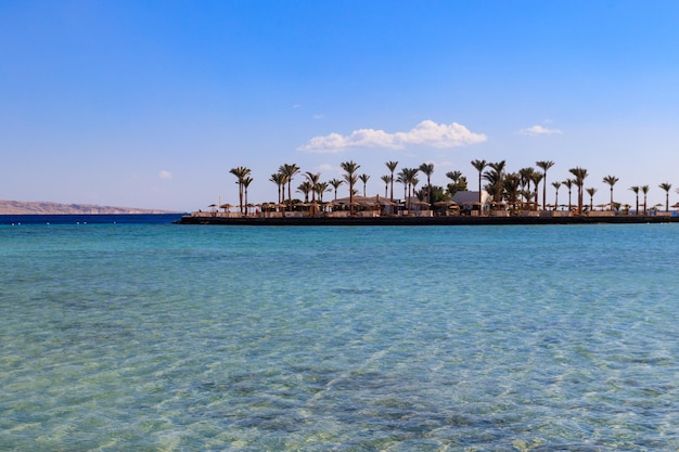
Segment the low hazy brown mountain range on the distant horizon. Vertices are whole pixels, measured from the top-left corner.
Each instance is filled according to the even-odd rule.
[[[131,207],[97,206],[93,204],[60,204],[49,202],[0,199],[0,215],[115,215],[115,214],[177,214],[174,210],[137,209]]]

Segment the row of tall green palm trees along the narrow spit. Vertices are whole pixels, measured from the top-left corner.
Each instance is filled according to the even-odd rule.
[[[539,206],[539,185],[542,183],[542,210],[548,208],[547,204],[547,175],[548,170],[554,166],[552,160],[538,160],[536,162],[536,169],[534,167],[522,168],[515,172],[507,171],[505,160],[501,162],[486,162],[482,159],[475,159],[471,162],[471,165],[478,171],[478,203],[482,203],[482,190],[485,190],[492,198],[496,205],[501,205],[507,202],[511,205],[520,203],[533,205],[536,208]],[[305,178],[296,192],[303,193],[305,202],[309,202],[309,195],[311,195],[311,203],[316,203],[318,199],[323,202],[323,193],[334,190],[335,198],[337,198],[337,190],[341,185],[348,185],[349,192],[349,209],[350,215],[354,215],[354,196],[359,192],[355,189],[356,184],[361,181],[363,185],[363,196],[366,196],[366,189],[369,175],[358,173],[360,165],[354,160],[343,162],[341,165],[344,175],[342,179],[331,179],[329,181],[321,181],[321,175],[319,172],[307,171],[303,176]],[[401,168],[397,173],[398,162],[386,162],[386,168],[388,173],[381,177],[382,182],[385,184],[385,197],[394,202],[394,182],[403,184],[403,197],[408,202],[407,208],[410,210],[410,202],[413,196],[420,201],[425,201],[430,204],[430,207],[435,202],[448,201],[457,192],[467,190],[467,181],[461,171],[448,171],[446,177],[450,179],[450,183],[446,188],[432,185],[431,177],[434,173],[434,164],[423,163],[417,168]],[[541,171],[540,171],[541,170]],[[293,179],[300,175],[302,169],[296,164],[283,164],[279,167],[278,172],[274,172],[269,178],[269,181],[273,182],[278,186],[278,204],[285,205],[286,209],[293,210],[293,196],[292,196],[292,182]],[[247,189],[253,182],[251,176],[251,169],[246,167],[232,168],[231,172],[236,178],[236,184],[239,185],[239,207],[241,214],[245,214],[247,206]],[[577,212],[582,212],[585,208],[584,196],[585,193],[590,196],[590,210],[593,209],[593,197],[597,189],[585,188],[585,180],[587,179],[588,170],[582,167],[575,167],[568,170],[571,178],[563,181],[553,181],[551,185],[555,190],[554,208],[559,206],[559,190],[565,186],[568,190],[568,210],[573,209],[572,204],[572,191],[575,188],[577,190]],[[426,177],[426,185],[420,191],[417,191],[417,185],[420,183],[419,175],[422,173]],[[484,185],[484,181],[486,182]],[[619,203],[615,203],[613,198],[613,188],[619,181],[619,178],[615,176],[605,176],[602,179],[603,183],[610,186],[611,198],[610,208],[619,209]],[[669,191],[671,184],[669,182],[663,182],[658,185],[665,191],[665,210],[669,210]],[[287,188],[287,198],[285,198],[285,188]],[[643,214],[646,215],[646,195],[650,191],[649,185],[635,185],[630,190],[637,195],[637,208],[639,212],[639,194],[643,194]],[[679,190],[677,190],[679,193]],[[520,198],[523,197],[523,201]],[[629,206],[631,207],[631,206]]]

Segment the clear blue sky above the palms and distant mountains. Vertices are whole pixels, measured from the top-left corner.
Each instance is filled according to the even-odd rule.
[[[196,210],[235,204],[236,166],[266,202],[282,164],[351,159],[371,194],[387,160],[475,188],[483,158],[652,205],[679,188],[678,48],[676,1],[4,0],[0,198]]]

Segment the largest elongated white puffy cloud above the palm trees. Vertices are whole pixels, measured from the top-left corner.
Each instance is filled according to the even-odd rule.
[[[484,141],[486,141],[485,134],[474,133],[460,124],[436,124],[427,119],[408,132],[387,133],[384,130],[359,129],[348,135],[330,133],[324,137],[315,137],[297,150],[317,153],[337,153],[348,147],[396,150],[408,145],[422,145],[443,148]]]

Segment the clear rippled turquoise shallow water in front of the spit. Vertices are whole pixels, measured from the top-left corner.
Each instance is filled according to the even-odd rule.
[[[679,449],[675,224],[0,227],[0,450]]]

